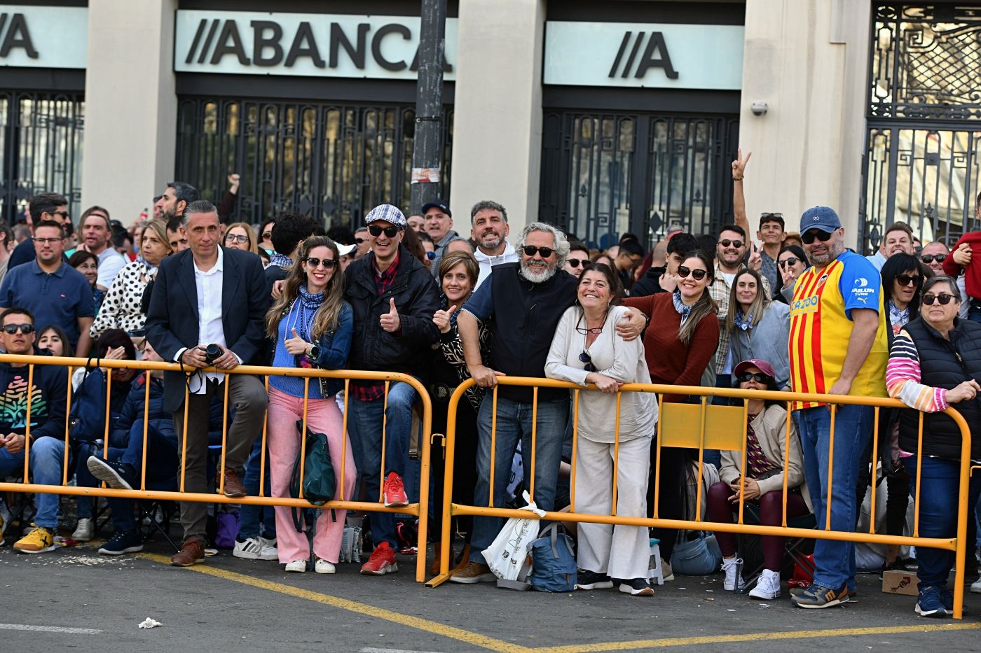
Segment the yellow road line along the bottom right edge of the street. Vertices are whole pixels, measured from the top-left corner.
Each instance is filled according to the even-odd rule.
[[[693,646],[697,644],[728,644],[740,641],[775,641],[778,639],[805,639],[808,637],[843,637],[898,632],[937,632],[950,630],[974,630],[981,624],[930,624],[923,626],[896,626],[883,628],[838,628],[828,630],[791,630],[787,632],[748,632],[732,635],[704,635],[698,637],[666,637],[664,639],[640,639],[636,641],[612,641],[597,644],[573,644],[571,646],[545,646],[535,653],[594,653],[597,651],[628,651],[639,648],[667,648],[668,646]]]

